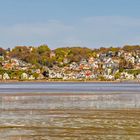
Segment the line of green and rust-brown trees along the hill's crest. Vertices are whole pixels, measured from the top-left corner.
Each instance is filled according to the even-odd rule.
[[[124,47],[101,47],[99,49],[91,49],[87,47],[62,47],[55,50],[51,50],[48,45],[40,45],[38,47],[33,46],[16,46],[11,51],[0,48],[0,56],[18,58],[27,63],[34,64],[36,66],[48,66],[65,65],[66,63],[79,62],[81,59],[87,59],[89,57],[97,57],[100,53],[113,52],[115,55],[118,51],[123,50],[126,52],[140,51],[139,45],[125,45]],[[8,53],[7,53],[8,52]],[[54,54],[54,55],[53,55]],[[114,57],[115,57],[114,55]],[[122,65],[123,60],[121,61]],[[128,64],[130,65],[130,64]]]

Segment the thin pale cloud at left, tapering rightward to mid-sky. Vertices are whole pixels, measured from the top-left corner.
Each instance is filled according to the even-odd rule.
[[[61,37],[71,30],[71,26],[59,21],[0,26],[0,43],[8,46],[47,44],[47,41],[61,40]]]

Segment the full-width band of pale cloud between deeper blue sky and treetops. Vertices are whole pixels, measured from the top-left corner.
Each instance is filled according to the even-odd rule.
[[[140,19],[121,16],[95,16],[65,23],[0,25],[0,46],[48,44],[63,46],[120,46],[140,44]]]

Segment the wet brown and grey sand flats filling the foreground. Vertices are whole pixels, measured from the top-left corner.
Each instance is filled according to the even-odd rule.
[[[0,95],[0,140],[139,140],[140,95]]]

